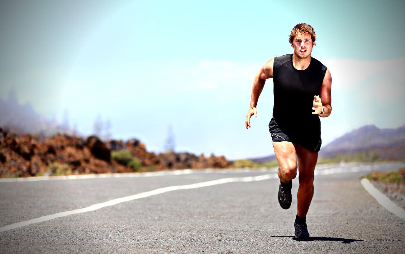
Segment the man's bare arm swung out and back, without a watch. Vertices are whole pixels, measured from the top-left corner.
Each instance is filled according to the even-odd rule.
[[[257,102],[259,100],[260,93],[262,93],[266,79],[273,78],[273,63],[274,63],[274,58],[267,61],[267,63],[264,64],[264,66],[256,74],[256,76],[253,80],[252,96],[250,97],[250,107],[249,107],[249,111],[247,112],[247,115],[245,118],[246,129],[249,129],[249,127],[251,127],[250,118],[252,117],[252,115],[257,117],[256,106],[257,106]]]

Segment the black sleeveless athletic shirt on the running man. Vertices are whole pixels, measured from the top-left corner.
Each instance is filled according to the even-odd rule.
[[[292,54],[274,58],[273,119],[282,129],[310,130],[320,135],[319,116],[312,114],[312,107],[313,96],[320,94],[326,69],[313,57],[305,70],[294,68]]]

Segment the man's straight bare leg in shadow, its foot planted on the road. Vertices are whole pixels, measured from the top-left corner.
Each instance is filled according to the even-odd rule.
[[[318,161],[318,152],[311,152],[301,145],[295,145],[298,158],[298,181],[300,186],[297,193],[298,216],[305,218],[313,197],[313,172]]]

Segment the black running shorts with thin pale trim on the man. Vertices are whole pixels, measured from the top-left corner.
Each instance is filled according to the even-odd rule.
[[[273,142],[288,141],[294,144],[299,144],[304,148],[319,152],[322,145],[320,127],[318,129],[309,129],[303,126],[295,127],[280,127],[274,118],[269,123],[269,131]]]

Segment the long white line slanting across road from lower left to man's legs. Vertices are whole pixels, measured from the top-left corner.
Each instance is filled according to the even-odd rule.
[[[70,211],[60,212],[60,213],[56,213],[56,214],[50,214],[50,215],[42,216],[42,217],[35,218],[35,219],[32,219],[32,220],[27,220],[27,221],[23,221],[23,222],[10,224],[10,225],[7,225],[7,226],[2,226],[0,228],[0,232],[11,230],[11,229],[17,229],[17,228],[19,228],[21,226],[27,226],[27,225],[38,223],[38,222],[52,220],[52,219],[55,219],[55,218],[65,217],[65,216],[69,216],[69,215],[72,215],[72,214],[80,214],[80,213],[85,213],[85,212],[91,212],[91,211],[101,209],[103,207],[107,207],[107,206],[111,206],[111,205],[117,205],[119,203],[132,201],[132,200],[135,200],[135,199],[142,199],[142,198],[145,198],[145,197],[150,197],[150,196],[153,196],[153,195],[158,195],[158,194],[166,193],[166,192],[173,191],[173,190],[195,189],[195,188],[213,186],[213,185],[217,185],[217,184],[225,184],[225,183],[228,183],[228,182],[262,181],[262,180],[267,180],[267,179],[271,179],[271,178],[278,178],[278,176],[277,176],[277,174],[265,174],[265,175],[261,175],[261,176],[222,178],[222,179],[212,180],[212,181],[207,181],[207,182],[198,182],[198,183],[195,183],[195,184],[168,186],[168,187],[164,187],[164,188],[158,188],[158,189],[155,189],[155,190],[146,191],[146,192],[143,192],[143,193],[138,193],[138,194],[135,194],[135,195],[130,195],[130,196],[126,196],[126,197],[120,197],[120,198],[117,198],[117,199],[111,199],[111,200],[103,202],[103,203],[97,203],[97,204],[90,205],[88,207],[84,207],[84,208],[80,208],[80,209],[76,209],[76,210],[70,210]]]

